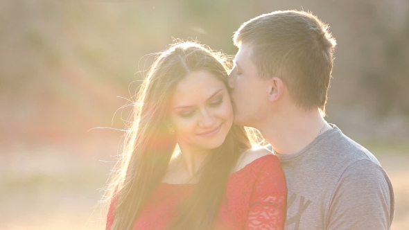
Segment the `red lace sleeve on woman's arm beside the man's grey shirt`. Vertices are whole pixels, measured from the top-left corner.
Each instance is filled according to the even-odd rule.
[[[279,159],[268,157],[253,186],[245,229],[284,229],[286,200],[286,178]]]

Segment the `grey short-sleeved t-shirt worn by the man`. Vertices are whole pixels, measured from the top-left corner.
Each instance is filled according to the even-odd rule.
[[[277,154],[288,187],[285,229],[390,229],[388,175],[373,154],[331,126],[301,152]]]

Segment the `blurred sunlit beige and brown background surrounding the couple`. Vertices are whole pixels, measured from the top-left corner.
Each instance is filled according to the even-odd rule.
[[[174,38],[234,55],[234,31],[311,10],[336,37],[327,121],[372,151],[409,229],[409,1],[0,1],[0,229],[104,229],[98,200],[131,98]]]

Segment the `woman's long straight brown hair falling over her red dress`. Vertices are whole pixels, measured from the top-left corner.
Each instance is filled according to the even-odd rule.
[[[177,83],[193,71],[205,70],[229,89],[226,63],[223,55],[207,46],[181,42],[162,52],[150,67],[134,104],[121,161],[112,171],[108,196],[115,201],[111,230],[132,229],[168,169],[177,143],[166,127],[167,105]],[[214,228],[229,174],[248,148],[251,144],[244,127],[233,125],[224,143],[204,161],[198,183],[180,204],[169,229]]]

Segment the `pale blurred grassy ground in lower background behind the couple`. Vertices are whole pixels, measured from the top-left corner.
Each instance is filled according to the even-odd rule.
[[[0,155],[0,229],[105,229],[106,209],[101,209],[98,200],[113,166],[105,161],[114,159],[110,155],[116,152],[116,143],[87,155],[59,148]],[[409,229],[409,146],[366,146],[381,161],[394,186],[392,229]]]

